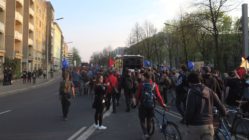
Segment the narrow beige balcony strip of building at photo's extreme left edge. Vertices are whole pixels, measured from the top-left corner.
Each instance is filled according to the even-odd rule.
[[[5,57],[5,18],[6,0],[0,0],[0,79],[3,78],[3,63]]]

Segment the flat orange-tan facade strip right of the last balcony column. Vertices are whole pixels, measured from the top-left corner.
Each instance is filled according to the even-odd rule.
[[[47,3],[45,0],[35,0],[35,33],[33,67],[46,69],[47,46]],[[51,24],[49,24],[51,26]]]

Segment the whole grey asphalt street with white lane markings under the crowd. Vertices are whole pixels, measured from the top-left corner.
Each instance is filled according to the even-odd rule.
[[[93,96],[83,95],[72,99],[69,117],[62,120],[58,96],[59,79],[38,88],[0,98],[1,140],[142,140],[137,108],[125,112],[124,97],[117,113],[107,111],[104,125],[107,130],[93,128],[91,108]],[[175,115],[167,115],[171,121],[179,122]],[[159,127],[152,140],[162,135]]]

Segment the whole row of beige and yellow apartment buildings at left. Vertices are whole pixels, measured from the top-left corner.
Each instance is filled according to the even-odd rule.
[[[0,0],[1,72],[5,58],[18,61],[20,72],[50,70],[52,63],[60,67],[62,42],[61,29],[54,26],[54,8],[50,1]]]

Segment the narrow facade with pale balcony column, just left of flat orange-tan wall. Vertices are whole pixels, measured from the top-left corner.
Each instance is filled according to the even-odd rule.
[[[35,0],[24,0],[24,19],[23,19],[23,61],[22,68],[28,71],[37,69],[34,67],[34,16]]]

